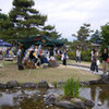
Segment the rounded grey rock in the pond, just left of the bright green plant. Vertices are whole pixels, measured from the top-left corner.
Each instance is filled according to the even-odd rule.
[[[55,105],[56,100],[56,96],[53,94],[49,94],[45,98],[45,105]]]

